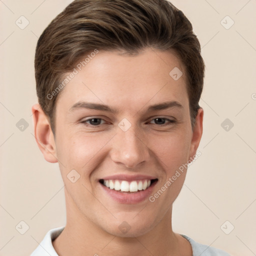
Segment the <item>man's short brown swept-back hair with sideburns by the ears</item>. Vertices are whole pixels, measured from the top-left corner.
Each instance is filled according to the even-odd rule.
[[[145,47],[173,49],[185,66],[193,126],[205,66],[199,41],[183,12],[167,0],[74,0],[45,28],[35,52],[38,102],[53,134],[59,93],[47,95],[85,54],[95,48],[133,54]]]

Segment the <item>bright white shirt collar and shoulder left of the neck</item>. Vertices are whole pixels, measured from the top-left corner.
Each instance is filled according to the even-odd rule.
[[[40,244],[30,254],[30,256],[58,256],[54,247],[52,246],[52,240],[54,240],[62,232],[63,229],[64,226],[50,229],[45,234]]]

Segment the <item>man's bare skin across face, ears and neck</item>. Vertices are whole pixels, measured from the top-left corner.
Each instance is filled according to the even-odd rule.
[[[183,72],[176,81],[169,75],[174,67]],[[39,105],[32,107],[37,144],[45,160],[59,163],[65,184],[66,226],[53,241],[60,256],[192,255],[190,243],[171,227],[186,170],[154,202],[118,203],[98,182],[119,173],[152,175],[158,178],[153,195],[195,155],[203,110],[192,129],[185,78],[173,51],[145,48],[134,56],[99,51],[58,95],[55,137]],[[146,111],[172,100],[181,107]],[[78,101],[104,103],[117,113],[70,110]],[[90,118],[102,119],[97,126],[82,122]],[[118,127],[123,118],[131,124],[127,131]],[[66,176],[72,169],[80,175],[75,183]],[[123,221],[130,226],[126,233],[118,228]]]

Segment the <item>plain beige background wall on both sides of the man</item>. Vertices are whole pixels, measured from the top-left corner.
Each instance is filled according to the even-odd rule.
[[[29,255],[65,224],[63,182],[33,137],[38,36],[70,0],[0,0],[0,255]],[[173,0],[193,24],[206,64],[201,156],[174,203],[174,231],[232,255],[256,254],[256,1]],[[29,20],[24,29],[15,21]],[[226,16],[234,24],[226,29]],[[222,22],[230,25],[231,20]],[[24,23],[23,23],[24,24]],[[25,119],[20,131],[16,123]],[[228,118],[234,126],[226,131]],[[15,226],[23,220],[22,235]],[[227,224],[222,224],[228,220]],[[234,229],[229,233],[232,225]],[[222,226],[222,229],[221,229]],[[24,224],[23,224],[24,227]],[[224,228],[223,228],[224,227]],[[18,229],[18,228],[17,228]]]

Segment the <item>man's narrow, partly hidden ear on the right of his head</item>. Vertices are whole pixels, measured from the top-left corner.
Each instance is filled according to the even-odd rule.
[[[196,150],[201,140],[202,120],[203,120],[203,109],[200,107],[195,117],[195,123],[193,127],[193,133],[192,133],[191,144],[190,144],[190,153],[189,153],[190,157],[193,157],[193,155],[196,154]]]

